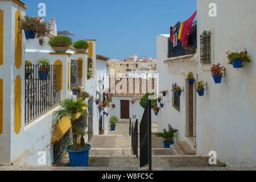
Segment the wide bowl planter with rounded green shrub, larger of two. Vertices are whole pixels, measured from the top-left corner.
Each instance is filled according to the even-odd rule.
[[[49,38],[48,44],[55,52],[66,52],[72,44],[72,39],[68,36],[56,35]]]

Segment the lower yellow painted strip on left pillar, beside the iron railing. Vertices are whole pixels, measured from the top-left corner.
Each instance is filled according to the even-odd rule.
[[[22,107],[22,79],[16,76],[14,81],[14,132],[19,134],[21,129],[21,107]]]

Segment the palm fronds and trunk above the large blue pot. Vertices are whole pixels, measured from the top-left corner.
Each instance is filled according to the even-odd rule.
[[[72,151],[79,151],[79,147],[77,146],[77,119],[76,115],[81,114],[82,117],[87,115],[87,110],[85,107],[88,105],[84,102],[82,98],[78,98],[75,101],[73,98],[66,98],[65,100],[60,102],[60,109],[53,112],[55,122],[61,122],[61,119],[64,117],[68,117],[71,119],[72,125],[72,135],[73,135],[73,146],[69,148]],[[86,146],[87,147],[87,146]]]

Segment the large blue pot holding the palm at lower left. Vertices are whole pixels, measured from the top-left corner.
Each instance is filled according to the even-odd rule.
[[[88,146],[89,146],[88,148],[81,151],[68,150],[68,148],[71,146],[68,146],[66,148],[71,167],[88,167],[89,150],[91,148],[90,144],[88,144]]]

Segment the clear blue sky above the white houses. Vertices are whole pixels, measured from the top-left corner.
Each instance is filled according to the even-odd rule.
[[[46,3],[44,17],[56,18],[57,30],[78,38],[96,39],[96,53],[123,60],[130,55],[156,58],[156,36],[170,34],[170,26],[187,20],[196,0],[22,0],[27,15],[38,16],[38,4]],[[77,39],[77,38],[76,38]]]

